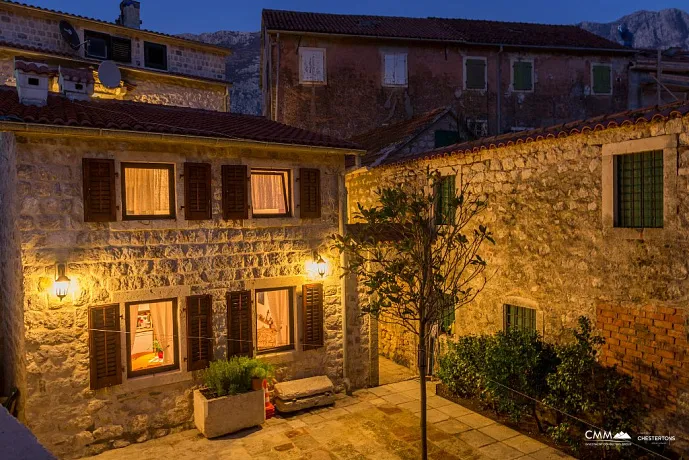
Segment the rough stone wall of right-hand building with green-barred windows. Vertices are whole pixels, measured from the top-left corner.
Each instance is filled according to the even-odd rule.
[[[490,279],[472,304],[457,311],[457,333],[503,329],[504,304],[535,309],[536,327],[549,341],[569,340],[568,328],[580,315],[595,319],[599,304],[642,310],[671,305],[673,325],[658,318],[663,323],[654,326],[668,331],[656,340],[662,355],[662,340],[682,340],[674,324],[688,312],[688,132],[685,117],[358,171],[347,176],[349,214],[357,203],[375,204],[370,191],[399,181],[406,169],[456,172],[458,186],[470,180],[472,191],[487,198],[476,223],[487,225],[496,241],[481,251]],[[664,152],[664,228],[613,228],[612,154],[657,149]],[[672,377],[657,378],[669,386]],[[641,387],[653,391],[643,381]],[[678,390],[678,412],[687,397],[685,387]]]

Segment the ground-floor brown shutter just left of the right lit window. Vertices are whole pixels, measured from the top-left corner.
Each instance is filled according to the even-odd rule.
[[[251,291],[227,294],[227,350],[229,356],[253,356]]]

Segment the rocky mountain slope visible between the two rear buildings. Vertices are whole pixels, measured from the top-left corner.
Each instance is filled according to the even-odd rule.
[[[232,54],[226,63],[227,80],[232,82],[231,110],[235,113],[261,114],[261,90],[258,87],[261,65],[260,32],[221,30],[181,36],[232,48]]]

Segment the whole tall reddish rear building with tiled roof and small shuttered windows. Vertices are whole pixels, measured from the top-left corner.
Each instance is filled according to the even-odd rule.
[[[628,108],[634,50],[576,26],[264,10],[264,115],[343,138],[451,106],[476,137]]]

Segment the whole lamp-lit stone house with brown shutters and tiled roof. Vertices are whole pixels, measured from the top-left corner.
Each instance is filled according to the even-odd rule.
[[[55,455],[190,428],[211,359],[366,384],[367,325],[328,239],[354,144],[192,108],[25,105],[11,87],[0,120],[3,386]]]

